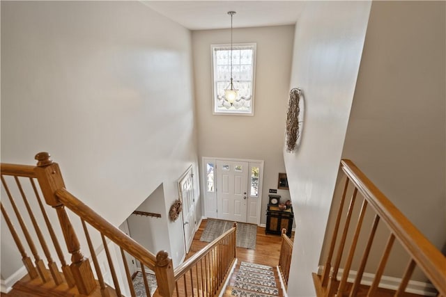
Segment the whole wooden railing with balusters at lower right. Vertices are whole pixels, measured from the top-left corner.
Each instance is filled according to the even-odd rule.
[[[392,246],[396,240],[401,243],[401,246],[407,252],[409,261],[406,266],[406,271],[401,277],[399,288],[396,290],[394,296],[403,296],[405,294],[404,292],[406,291],[415,266],[422,270],[426,278],[438,290],[438,296],[446,296],[445,256],[410,223],[406,216],[376,188],[352,161],[342,160],[341,170],[346,175],[346,181],[339,202],[339,209],[337,210],[332,240],[328,248],[328,256],[323,265],[321,275],[313,275],[318,296],[357,296],[360,289],[364,289],[364,287],[361,287],[361,282],[367,260],[373,248],[381,250],[382,256],[374,274],[374,279],[370,286],[367,287],[367,292],[364,292],[364,296],[366,296],[365,294],[367,296],[381,296],[378,293],[378,285],[380,284],[385,266],[391,256]],[[349,185],[353,187],[349,188]],[[353,193],[351,193],[352,191]],[[347,209],[344,209],[347,193],[351,193],[351,199]],[[358,196],[362,197],[362,206],[357,216],[355,230],[351,234],[351,241],[346,242],[349,238],[348,230],[351,225],[353,213],[355,212],[355,203],[357,200],[360,200]],[[359,266],[357,266],[357,273],[353,282],[349,283],[348,278],[349,276],[351,277],[350,272],[353,257],[362,231],[367,207],[373,211],[374,220],[371,222],[367,243],[364,250],[362,250],[362,258]],[[343,227],[341,227],[341,221],[344,222]],[[377,233],[376,230],[381,221],[385,223],[388,230],[387,244],[384,248],[373,245]],[[342,262],[341,260],[344,257],[346,258]],[[344,264],[344,268],[339,279],[338,273],[342,263]]]

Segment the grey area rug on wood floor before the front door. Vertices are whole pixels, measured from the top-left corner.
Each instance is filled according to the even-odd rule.
[[[231,229],[233,222],[229,220],[208,219],[206,228],[201,234],[200,241],[211,242],[227,230]],[[239,248],[256,249],[257,226],[254,224],[237,223],[237,241]]]

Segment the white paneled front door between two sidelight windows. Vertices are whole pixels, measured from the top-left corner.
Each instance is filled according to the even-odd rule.
[[[215,161],[217,218],[246,223],[248,162]]]

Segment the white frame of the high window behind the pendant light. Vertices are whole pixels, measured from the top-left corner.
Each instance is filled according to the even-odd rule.
[[[214,57],[214,49],[216,47],[231,47],[231,44],[215,44],[210,45],[210,69],[211,69],[211,84],[212,84],[212,113],[213,115],[248,115],[254,116],[254,90],[255,90],[255,82],[256,82],[256,56],[257,56],[257,44],[256,42],[244,42],[244,43],[233,43],[232,47],[252,47],[252,98],[251,98],[251,111],[217,111],[217,96],[215,90],[215,57]],[[228,81],[229,84],[229,81]]]

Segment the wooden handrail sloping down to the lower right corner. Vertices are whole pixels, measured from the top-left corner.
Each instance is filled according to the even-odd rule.
[[[395,205],[347,159],[341,161],[341,169],[374,208],[378,216],[401,242],[403,248],[417,263],[427,278],[446,296],[446,257],[404,216]]]

